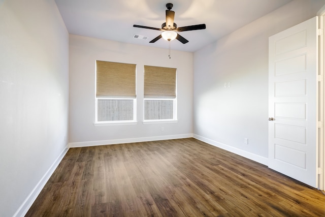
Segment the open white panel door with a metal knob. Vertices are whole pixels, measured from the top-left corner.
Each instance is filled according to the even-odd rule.
[[[269,167],[317,188],[317,17],[269,38]]]

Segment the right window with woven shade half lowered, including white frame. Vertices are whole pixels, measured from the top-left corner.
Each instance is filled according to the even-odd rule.
[[[144,120],[176,120],[176,69],[144,66]]]

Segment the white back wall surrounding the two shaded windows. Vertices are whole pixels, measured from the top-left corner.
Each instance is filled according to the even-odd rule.
[[[95,60],[137,65],[136,125],[94,126]],[[144,65],[177,68],[177,123],[143,124]],[[70,147],[191,137],[192,92],[193,53],[70,36]]]

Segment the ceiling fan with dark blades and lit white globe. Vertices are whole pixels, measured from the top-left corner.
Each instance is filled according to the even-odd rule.
[[[177,24],[174,23],[175,12],[171,11],[171,9],[173,8],[173,4],[168,3],[168,4],[166,4],[166,7],[168,9],[168,10],[166,10],[166,22],[164,22],[161,25],[161,28],[155,28],[155,27],[149,27],[149,26],[143,26],[143,25],[133,25],[133,27],[148,28],[148,29],[163,31],[163,33],[161,33],[161,35],[152,39],[149,43],[154,43],[154,42],[158,41],[160,38],[164,38],[167,41],[172,41],[174,39],[177,39],[178,41],[182,42],[183,44],[186,44],[188,42],[188,40],[186,40],[184,37],[180,36],[177,32],[185,32],[185,31],[190,31],[190,30],[199,30],[199,29],[206,28],[205,24],[177,27]]]

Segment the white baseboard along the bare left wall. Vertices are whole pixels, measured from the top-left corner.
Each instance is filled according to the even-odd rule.
[[[13,217],[23,217],[31,207],[31,205],[35,202],[36,198],[41,193],[42,189],[44,188],[46,182],[50,179],[51,175],[63,159],[63,157],[68,152],[69,147],[67,146],[62,150],[60,155],[56,158],[54,163],[51,165],[51,167],[47,170],[47,172],[44,174],[44,176],[41,178],[41,180],[37,183],[35,188],[30,192],[30,194],[27,196],[27,198],[24,200],[24,202],[21,204],[21,206],[18,208],[16,213],[13,215]]]

